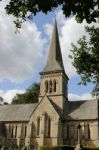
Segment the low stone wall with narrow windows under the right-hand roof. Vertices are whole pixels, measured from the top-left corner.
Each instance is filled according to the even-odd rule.
[[[78,139],[78,125],[80,129],[80,141],[84,146],[98,146],[98,123],[91,121],[68,121],[63,125],[63,142],[67,145],[76,145]]]

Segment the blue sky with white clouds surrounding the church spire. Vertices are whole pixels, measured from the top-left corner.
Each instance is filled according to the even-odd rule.
[[[23,93],[33,82],[39,82],[46,59],[54,18],[56,15],[65,71],[69,76],[69,99],[92,99],[93,85],[78,86],[80,77],[68,58],[71,42],[85,34],[86,22],[78,24],[74,17],[66,19],[61,10],[48,15],[38,14],[33,21],[25,22],[15,34],[13,17],[4,11],[0,2],[0,96],[10,102],[16,93]]]

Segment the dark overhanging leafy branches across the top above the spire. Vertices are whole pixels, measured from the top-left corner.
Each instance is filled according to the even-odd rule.
[[[61,6],[66,17],[75,15],[78,22],[84,19],[91,23],[99,17],[98,0],[10,0],[5,7],[7,14],[15,16],[18,28],[22,21],[32,19],[37,13],[47,14]]]

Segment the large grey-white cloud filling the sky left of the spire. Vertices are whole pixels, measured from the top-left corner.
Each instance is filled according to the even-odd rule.
[[[15,34],[13,18],[0,2],[0,81],[22,82],[39,70],[46,40],[35,23],[25,22]]]

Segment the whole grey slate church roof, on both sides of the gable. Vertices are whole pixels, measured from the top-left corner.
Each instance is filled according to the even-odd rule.
[[[51,99],[49,100],[59,116],[64,120],[98,119],[98,100],[67,101],[63,116],[59,107]],[[38,103],[1,105],[0,122],[29,121],[37,105]]]

